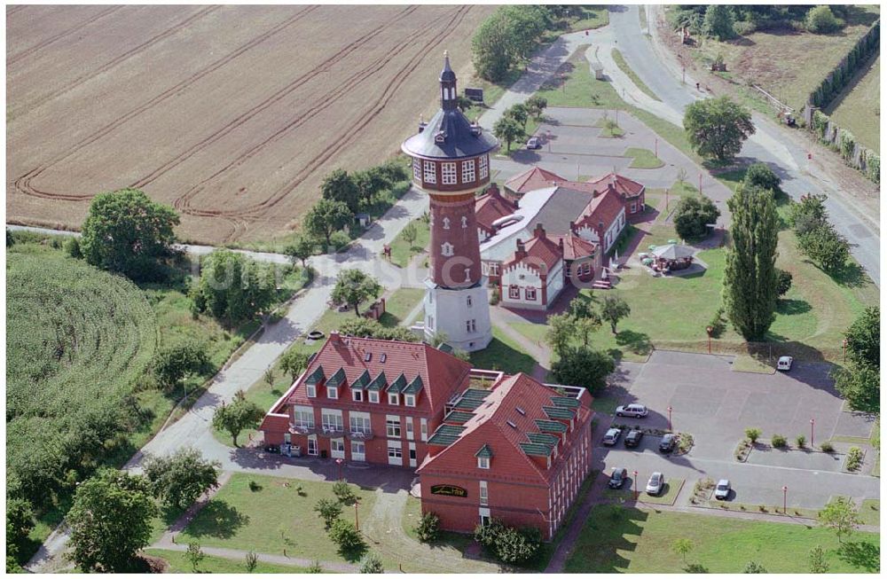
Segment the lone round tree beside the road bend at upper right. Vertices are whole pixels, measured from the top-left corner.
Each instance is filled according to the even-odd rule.
[[[684,129],[697,153],[721,162],[732,160],[742,150],[742,142],[755,132],[751,113],[727,97],[705,98],[687,106]]]

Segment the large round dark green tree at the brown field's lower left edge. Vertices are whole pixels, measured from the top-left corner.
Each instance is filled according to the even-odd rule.
[[[150,279],[157,260],[171,253],[178,223],[172,207],[137,189],[98,193],[83,222],[80,248],[90,265]]]

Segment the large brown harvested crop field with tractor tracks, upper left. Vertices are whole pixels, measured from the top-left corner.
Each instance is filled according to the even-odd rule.
[[[137,187],[183,239],[281,237],[327,172],[396,153],[444,50],[470,77],[493,8],[11,7],[7,220],[75,228],[96,193]]]

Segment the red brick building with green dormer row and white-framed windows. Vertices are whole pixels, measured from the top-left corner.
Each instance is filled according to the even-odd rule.
[[[331,332],[259,429],[267,444],[288,443],[302,455],[419,466],[470,371],[426,343]]]

